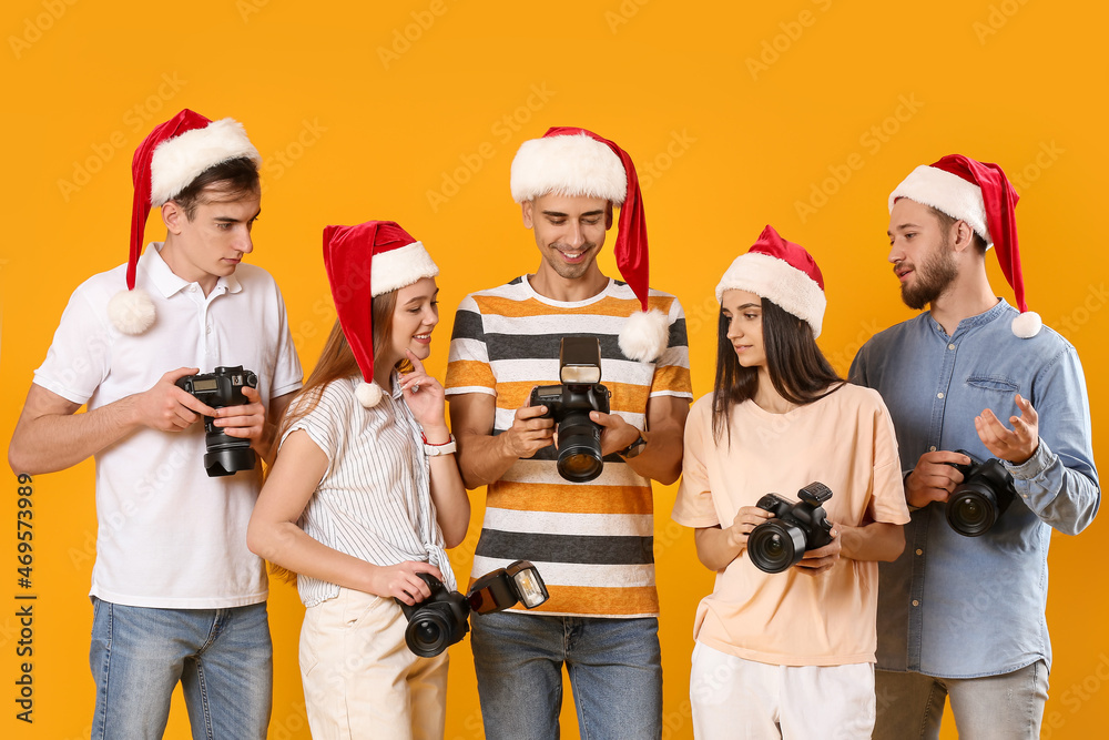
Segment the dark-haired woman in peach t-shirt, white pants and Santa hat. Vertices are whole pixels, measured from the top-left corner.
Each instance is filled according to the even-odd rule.
[[[716,298],[714,391],[690,412],[673,511],[718,571],[694,625],[694,734],[869,738],[877,561],[901,554],[908,521],[889,414],[816,346],[824,281],[803,247],[767,226]],[[754,547],[756,567],[749,536],[775,518],[756,504],[777,494],[790,516],[802,488],[832,494],[812,526],[827,544],[804,551],[783,531]]]

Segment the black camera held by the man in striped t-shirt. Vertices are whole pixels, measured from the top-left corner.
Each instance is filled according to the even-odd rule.
[[[558,426],[560,476],[587,483],[601,474],[601,426],[589,412],[609,413],[609,389],[601,385],[601,342],[596,336],[562,337],[559,346],[559,379],[562,385],[531,389],[529,406],[546,406],[541,418]]]

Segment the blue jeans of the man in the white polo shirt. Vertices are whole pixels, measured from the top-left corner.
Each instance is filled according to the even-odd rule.
[[[92,738],[161,738],[181,681],[194,739],[264,740],[273,706],[265,602],[234,609],[92,602]]]

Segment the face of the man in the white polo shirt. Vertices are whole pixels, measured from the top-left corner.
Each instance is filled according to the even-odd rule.
[[[162,206],[167,233],[161,254],[174,274],[199,283],[207,294],[254,250],[251,231],[262,210],[262,195],[247,191],[228,197],[218,183],[203,195],[191,216],[174,201]]]

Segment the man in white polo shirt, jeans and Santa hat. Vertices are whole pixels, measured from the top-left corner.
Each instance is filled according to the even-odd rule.
[[[70,297],[8,450],[17,474],[96,460],[93,738],[162,737],[179,681],[194,736],[266,736],[267,585],[246,548],[261,466],[210,477],[201,418],[268,458],[272,419],[301,387],[281,292],[238,264],[260,162],[241,124],[189,110],[143,141],[128,264]],[[166,239],[140,257],[151,205]],[[236,365],[257,375],[244,405],[213,408],[175,384]]]

